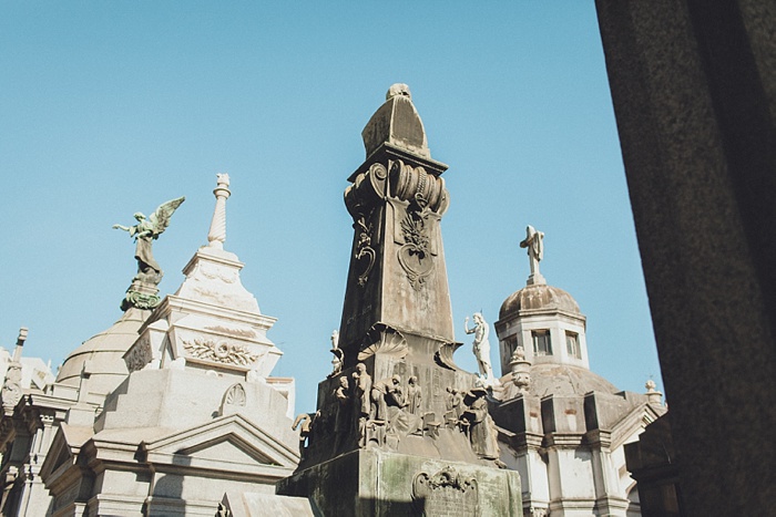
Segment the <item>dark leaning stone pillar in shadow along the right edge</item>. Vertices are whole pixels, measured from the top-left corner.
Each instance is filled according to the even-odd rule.
[[[776,500],[776,4],[596,0],[688,515]]]

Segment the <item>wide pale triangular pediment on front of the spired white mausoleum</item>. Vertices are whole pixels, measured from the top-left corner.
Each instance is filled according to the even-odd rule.
[[[228,471],[259,466],[294,468],[299,461],[296,451],[241,414],[144,442],[141,447],[150,463]]]

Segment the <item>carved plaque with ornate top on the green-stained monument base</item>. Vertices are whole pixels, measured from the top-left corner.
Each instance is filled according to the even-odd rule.
[[[412,480],[412,502],[421,515],[479,516],[477,479],[447,466],[433,475],[421,472]]]

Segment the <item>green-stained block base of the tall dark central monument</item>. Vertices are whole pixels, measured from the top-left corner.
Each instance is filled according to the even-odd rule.
[[[276,487],[308,497],[324,516],[522,516],[514,471],[378,449],[298,471]]]

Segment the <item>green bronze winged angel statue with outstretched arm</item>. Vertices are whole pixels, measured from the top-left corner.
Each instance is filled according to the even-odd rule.
[[[113,225],[115,229],[129,231],[130,237],[135,239],[135,259],[137,260],[135,279],[154,285],[162,281],[162,268],[154,260],[151,245],[170,226],[170,218],[185,199],[185,197],[178,197],[163,203],[147,218],[142,213],[136,213],[134,217],[137,219],[137,224],[134,226]]]

